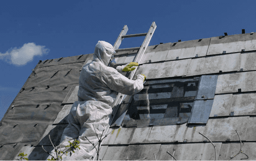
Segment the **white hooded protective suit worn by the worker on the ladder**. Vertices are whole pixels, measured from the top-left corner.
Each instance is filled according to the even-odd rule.
[[[72,156],[62,155],[63,160],[92,159],[96,154],[93,145],[84,138],[86,136],[95,145],[98,137],[109,123],[109,115],[112,113],[112,103],[117,93],[134,95],[143,89],[143,75],[138,75],[135,81],[126,78],[122,69],[126,66],[118,66],[116,69],[108,67],[110,59],[115,52],[113,46],[105,41],[98,41],[95,47],[93,61],[83,66],[79,77],[78,101],[72,105],[68,116],[69,125],[62,133],[60,145],[62,151],[66,151],[69,145],[77,139],[80,142],[80,150],[77,148]],[[64,147],[64,148],[63,148]],[[54,150],[51,152],[56,156]],[[51,158],[49,156],[48,158]]]

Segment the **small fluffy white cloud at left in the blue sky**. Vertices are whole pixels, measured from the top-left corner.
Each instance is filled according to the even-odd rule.
[[[17,66],[26,65],[32,61],[34,56],[42,56],[49,53],[50,49],[45,46],[35,45],[35,43],[27,43],[22,47],[11,48],[5,53],[0,52],[0,59]]]

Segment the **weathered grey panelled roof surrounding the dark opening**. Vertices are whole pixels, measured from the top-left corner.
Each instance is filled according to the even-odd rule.
[[[237,154],[240,139],[243,153],[249,160],[256,159],[255,42],[256,34],[248,33],[148,46],[135,73],[147,76],[145,87],[161,81],[199,81],[189,119],[164,126],[124,127],[125,110],[134,98],[126,96],[116,116],[111,116],[121,126],[110,128],[100,158],[166,160],[173,159],[172,154],[177,160],[214,160],[215,148],[207,137],[216,146],[217,159]],[[137,50],[119,51],[115,59],[126,64],[136,54]],[[48,157],[41,145],[53,149],[48,134],[59,144],[77,100],[79,70],[90,61],[92,54],[37,64],[0,122],[1,160],[15,159],[20,152],[33,160]],[[234,159],[247,158],[245,154]]]

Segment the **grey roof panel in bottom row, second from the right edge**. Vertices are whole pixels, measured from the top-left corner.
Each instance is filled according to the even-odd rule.
[[[214,143],[214,145],[216,160],[219,160],[222,143]],[[211,143],[162,144],[157,160],[175,160],[167,151],[177,160],[215,160],[215,150]]]

